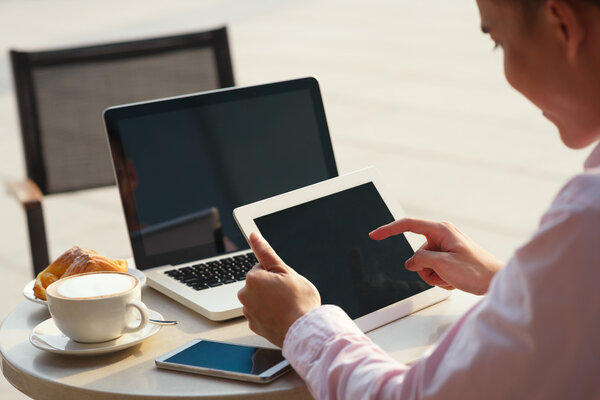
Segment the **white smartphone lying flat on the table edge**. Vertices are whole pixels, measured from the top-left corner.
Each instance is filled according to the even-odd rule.
[[[281,350],[193,340],[156,359],[156,366],[247,382],[267,383],[291,367]]]

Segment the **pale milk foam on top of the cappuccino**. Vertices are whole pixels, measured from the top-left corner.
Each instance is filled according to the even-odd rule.
[[[135,277],[125,274],[75,275],[64,282],[58,281],[54,292],[72,299],[106,297],[126,292],[135,287],[136,282]]]

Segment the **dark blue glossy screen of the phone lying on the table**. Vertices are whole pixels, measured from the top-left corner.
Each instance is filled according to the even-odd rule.
[[[260,375],[284,361],[281,350],[202,340],[166,358],[164,363]]]

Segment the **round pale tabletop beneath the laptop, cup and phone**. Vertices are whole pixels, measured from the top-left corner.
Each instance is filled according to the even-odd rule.
[[[304,399],[310,394],[294,372],[262,385],[158,369],[154,359],[195,339],[270,346],[244,318],[212,322],[145,287],[143,301],[177,326],[163,327],[144,342],[95,356],[53,354],[29,342],[31,330],[50,318],[45,306],[24,300],[0,327],[2,372],[39,400],[86,399]],[[441,336],[479,297],[455,291],[448,299],[372,331],[368,336],[398,361],[410,363]]]

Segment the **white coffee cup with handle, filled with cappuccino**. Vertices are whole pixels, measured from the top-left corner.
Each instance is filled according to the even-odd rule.
[[[127,273],[72,275],[49,285],[46,295],[54,323],[77,342],[105,342],[148,324],[140,281]],[[141,321],[133,325],[138,314]]]

